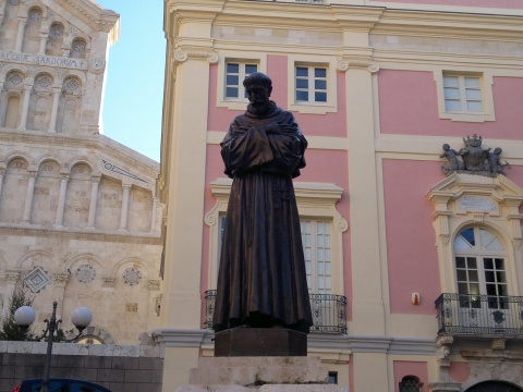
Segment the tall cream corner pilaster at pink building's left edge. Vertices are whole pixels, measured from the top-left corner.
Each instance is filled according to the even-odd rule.
[[[170,138],[167,155],[170,207],[161,326],[194,329],[202,328],[199,282],[204,244],[202,225],[187,222],[204,221],[209,63],[218,61],[211,38],[216,13],[182,10],[169,16],[177,20],[179,32],[177,39],[169,36],[168,42],[166,85],[174,87],[165,102],[163,133]],[[186,162],[191,162],[191,170],[186,170]]]

